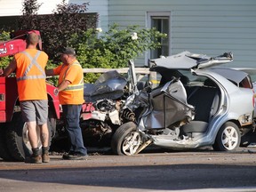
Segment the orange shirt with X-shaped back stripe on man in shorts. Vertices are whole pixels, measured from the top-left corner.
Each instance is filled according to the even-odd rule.
[[[41,70],[36,65],[31,64],[31,58],[24,53],[27,52],[31,58],[38,57],[36,62],[41,66]],[[16,61],[16,79],[18,84],[18,93],[20,100],[47,100],[46,83],[44,68],[46,66],[48,55],[45,52],[36,49],[26,49],[14,55]],[[30,68],[31,67],[31,68]],[[43,71],[42,71],[43,70]],[[19,80],[20,78],[23,78]]]

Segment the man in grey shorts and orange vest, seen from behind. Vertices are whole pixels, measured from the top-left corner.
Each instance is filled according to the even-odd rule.
[[[48,163],[50,161],[48,99],[44,72],[48,55],[36,49],[40,41],[40,36],[36,33],[29,33],[26,41],[27,49],[14,55],[9,66],[4,69],[3,76],[9,76],[16,70],[21,115],[23,121],[28,124],[28,140],[33,152],[31,156],[25,157],[25,163]],[[40,130],[42,156],[38,146],[36,125]]]

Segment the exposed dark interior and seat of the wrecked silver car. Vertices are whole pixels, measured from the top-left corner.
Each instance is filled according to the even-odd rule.
[[[195,107],[195,118],[190,123],[180,127],[180,136],[185,135],[193,138],[198,134],[207,132],[208,124],[219,108],[220,90],[211,79],[206,77],[188,77],[182,74],[178,77],[187,92],[188,104]],[[171,79],[172,76],[162,76],[159,85],[151,93],[159,92],[157,90],[162,89],[164,84]]]

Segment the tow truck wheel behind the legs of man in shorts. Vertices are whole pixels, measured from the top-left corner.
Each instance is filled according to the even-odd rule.
[[[52,123],[52,121],[51,121]],[[52,124],[48,121],[49,146],[52,141]],[[21,113],[14,113],[12,123],[9,124],[6,131],[7,148],[13,157],[13,160],[24,161],[25,156],[32,154],[32,148],[28,140],[28,125],[22,121]],[[37,128],[38,147],[42,148],[39,130]]]

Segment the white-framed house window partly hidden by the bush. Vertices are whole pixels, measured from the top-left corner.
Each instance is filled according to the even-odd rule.
[[[162,46],[151,50],[147,59],[156,59],[160,56],[168,56],[170,52],[170,15],[171,12],[148,12],[148,28],[156,28],[161,33],[167,34],[167,38],[159,39]]]

